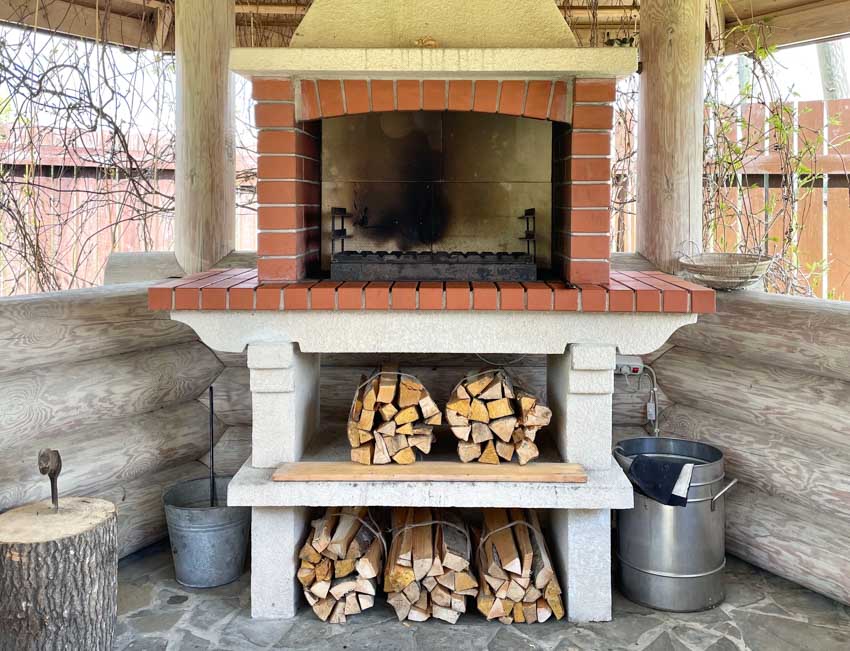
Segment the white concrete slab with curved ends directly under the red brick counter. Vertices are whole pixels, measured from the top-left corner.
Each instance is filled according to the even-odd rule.
[[[294,342],[302,353],[511,353],[562,355],[576,343],[623,354],[661,347],[696,314],[582,312],[225,312],[180,310],[171,318],[213,348]]]

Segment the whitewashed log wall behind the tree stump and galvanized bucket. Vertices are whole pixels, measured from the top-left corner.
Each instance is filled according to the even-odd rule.
[[[52,447],[60,500],[117,505],[121,556],[161,539],[163,490],[207,472],[197,398],[224,368],[190,328],[148,311],[146,284],[0,300],[0,511],[50,495],[36,458]],[[216,436],[226,429],[217,420]]]

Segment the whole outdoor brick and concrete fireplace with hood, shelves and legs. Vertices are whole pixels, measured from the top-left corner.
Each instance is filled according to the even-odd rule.
[[[357,504],[548,510],[569,619],[611,618],[610,512],[632,506],[611,459],[616,354],[714,311],[711,290],[610,269],[612,102],[636,65],[631,48],[576,48],[550,0],[315,0],[290,47],[232,51],[257,102],[258,267],[168,280],[149,303],[247,349],[252,457],[228,502],[253,510],[254,616],[296,612],[308,508]],[[334,279],[337,244],[431,266]],[[450,268],[512,254],[531,279]],[[499,481],[275,482],[283,463],[350,458],[319,419],[323,353],[546,355],[551,460],[587,481],[505,464]]]

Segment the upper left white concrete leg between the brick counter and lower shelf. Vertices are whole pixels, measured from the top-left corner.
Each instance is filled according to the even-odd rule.
[[[319,423],[319,355],[293,343],[248,346],[253,432],[251,465],[298,461]]]

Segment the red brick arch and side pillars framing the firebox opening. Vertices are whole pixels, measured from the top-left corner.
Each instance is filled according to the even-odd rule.
[[[565,81],[254,79],[259,279],[317,274],[322,118],[449,110],[552,122],[553,267],[573,285],[607,283],[615,86],[578,79],[570,101]]]

